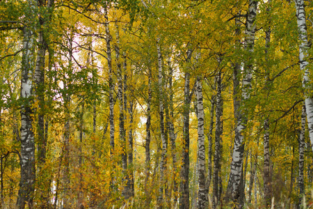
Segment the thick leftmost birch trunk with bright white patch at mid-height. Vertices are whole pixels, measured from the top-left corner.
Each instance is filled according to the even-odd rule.
[[[35,68],[35,31],[38,1],[27,1],[25,26],[23,29],[23,54],[21,78],[21,180],[17,196],[17,208],[33,208],[33,192],[35,183],[35,140],[33,134],[33,83],[31,75]]]

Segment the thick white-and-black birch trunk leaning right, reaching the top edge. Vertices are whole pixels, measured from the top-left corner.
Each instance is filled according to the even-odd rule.
[[[255,17],[257,15],[257,1],[250,0],[248,6],[248,15],[246,19],[246,38],[244,41],[244,48],[247,52],[252,54],[254,51],[255,42]],[[246,130],[246,124],[248,122],[248,111],[245,108],[245,102],[250,98],[250,88],[252,79],[252,57],[249,57],[243,68],[243,84],[241,93],[241,104],[242,109],[238,111],[236,121],[236,136],[234,139],[234,150],[232,153],[232,164],[230,171],[230,178],[228,180],[226,201],[230,200],[237,202],[239,199],[239,185],[241,179],[241,172],[243,170],[243,152],[244,152],[244,139],[243,131]]]

